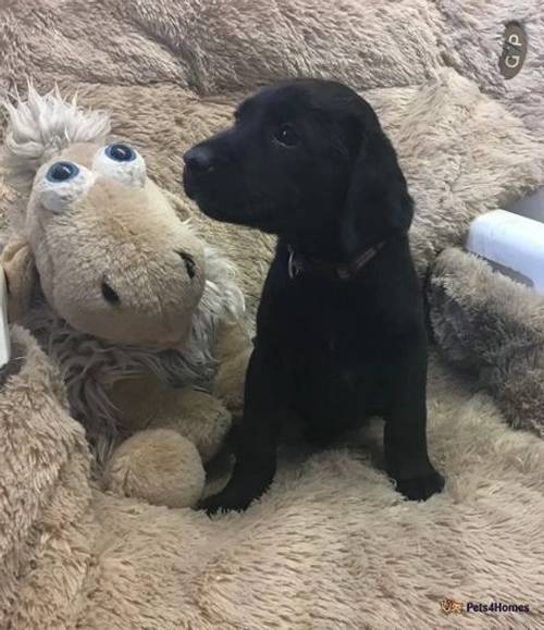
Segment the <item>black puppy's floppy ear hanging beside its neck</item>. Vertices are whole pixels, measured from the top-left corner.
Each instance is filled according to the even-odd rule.
[[[413,205],[393,145],[372,108],[361,101],[350,121],[355,153],[344,208],[342,239],[349,255],[407,232]],[[355,148],[354,148],[355,147]]]

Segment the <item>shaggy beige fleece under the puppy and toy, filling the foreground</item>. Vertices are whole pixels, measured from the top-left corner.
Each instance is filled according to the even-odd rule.
[[[508,428],[440,363],[429,406],[442,495],[405,502],[353,444],[286,460],[262,502],[210,520],[89,487],[58,375],[27,333],[14,329],[13,342],[18,360],[0,395],[0,628],[544,623],[544,443]],[[450,618],[444,597],[530,613]]]

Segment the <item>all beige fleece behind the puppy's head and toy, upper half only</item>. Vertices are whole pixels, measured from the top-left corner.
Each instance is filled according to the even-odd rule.
[[[534,144],[544,140],[540,0],[493,10],[460,0],[10,0],[0,17],[0,88],[24,89],[26,75],[40,91],[77,87],[83,104],[112,111],[114,132],[172,192],[183,151],[226,124],[244,94],[298,75],[345,81],[376,106],[418,203],[421,265],[478,212],[544,183],[544,148]],[[506,81],[498,59],[514,20],[530,53]],[[210,232],[224,240],[222,227]],[[239,231],[236,244],[252,298],[262,274],[254,251],[268,244],[258,238]]]

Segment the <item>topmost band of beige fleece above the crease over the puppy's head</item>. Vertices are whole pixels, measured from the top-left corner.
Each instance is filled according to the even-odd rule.
[[[505,24],[528,35],[523,70],[498,70]],[[359,89],[421,85],[454,67],[544,134],[540,0],[4,0],[0,85],[25,73],[199,95],[285,76],[334,76]]]

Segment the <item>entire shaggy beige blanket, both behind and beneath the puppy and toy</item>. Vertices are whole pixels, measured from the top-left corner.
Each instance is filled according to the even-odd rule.
[[[346,81],[398,148],[424,271],[471,218],[544,184],[540,4],[3,0],[0,88],[24,90],[26,75],[41,90],[77,88],[180,194],[183,151],[243,94],[300,74]],[[531,46],[507,82],[510,20]],[[0,182],[2,212],[23,201]],[[180,211],[195,209],[182,199]],[[195,217],[238,260],[255,308],[270,239]],[[432,362],[430,449],[447,484],[425,504],[403,501],[371,464],[378,427],[349,448],[286,455],[260,503],[210,520],[92,490],[54,370],[13,335],[0,391],[1,629],[544,627],[544,444],[514,431],[473,380]],[[516,413],[518,392],[500,407]],[[459,619],[443,598],[530,612]]]

